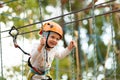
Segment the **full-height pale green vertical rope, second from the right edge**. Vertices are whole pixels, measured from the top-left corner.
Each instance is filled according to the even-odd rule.
[[[93,39],[93,43],[94,43],[94,56],[93,56],[93,60],[94,60],[94,76],[95,76],[95,79],[97,79],[97,50],[96,50],[96,47],[97,47],[97,37],[96,37],[96,24],[95,24],[95,14],[94,14],[94,10],[95,10],[95,6],[94,6],[94,0],[92,0],[92,26],[93,26],[93,34],[95,35],[95,38]]]

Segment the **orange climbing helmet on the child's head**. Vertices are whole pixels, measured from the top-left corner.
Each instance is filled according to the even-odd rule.
[[[61,38],[63,36],[62,27],[59,24],[55,23],[55,22],[47,22],[47,23],[45,23],[42,26],[42,28],[40,29],[39,34],[42,34],[42,32],[48,32],[48,31],[58,33],[61,36]]]

